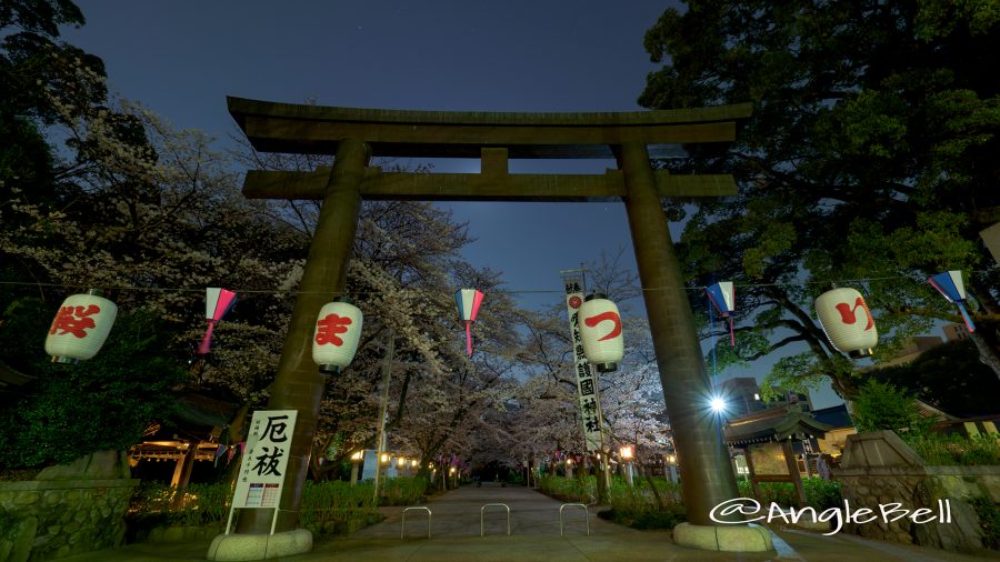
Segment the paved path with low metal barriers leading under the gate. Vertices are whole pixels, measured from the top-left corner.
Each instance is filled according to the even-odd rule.
[[[487,503],[510,506],[510,536],[507,513],[489,508],[483,516],[486,536],[480,538],[480,509]],[[583,510],[564,510],[564,535],[559,534],[560,502],[521,486],[462,486],[431,499],[431,538],[427,538],[427,512],[407,512],[407,536],[400,539],[402,508],[382,508],[387,519],[348,536],[319,541],[312,552],[280,560],[351,562],[440,562],[440,561],[1000,561],[1000,553],[968,556],[936,549],[907,546],[856,536],[822,536],[801,531],[778,531],[777,552],[724,553],[693,551],[677,546],[667,531],[636,531],[609,523],[590,511],[590,536]],[[141,543],[121,549],[61,559],[67,562],[144,562],[159,560],[204,560],[209,542],[183,544]],[[991,555],[993,554],[993,555]]]

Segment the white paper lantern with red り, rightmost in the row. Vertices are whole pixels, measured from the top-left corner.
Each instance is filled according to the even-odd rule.
[[[861,293],[848,288],[831,289],[816,300],[816,313],[838,351],[856,359],[871,355],[879,331]]]

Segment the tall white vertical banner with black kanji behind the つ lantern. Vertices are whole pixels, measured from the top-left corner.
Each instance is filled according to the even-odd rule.
[[[601,399],[593,367],[583,355],[583,339],[580,337],[579,310],[583,304],[583,278],[563,277],[566,283],[566,310],[569,313],[570,333],[573,341],[573,372],[580,399],[580,417],[583,421],[583,443],[588,452],[601,450]]]

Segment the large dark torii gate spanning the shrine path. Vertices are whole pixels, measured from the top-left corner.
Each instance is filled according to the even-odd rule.
[[[730,175],[654,171],[648,147],[732,142],[736,121],[750,117],[749,103],[617,113],[497,113],[331,108],[241,98],[227,101],[229,112],[257,150],[336,155],[332,169],[250,171],[243,183],[243,194],[252,199],[322,200],[268,403],[270,409],[299,411],[278,531],[297,526],[323,393],[323,377],[311,358],[312,332],[320,308],[343,291],[362,199],[620,199],[628,212],[667,412],[683,470],[688,519],[696,526],[716,524],[709,515],[712,508],[737,498],[738,491],[718,420],[707,411],[710,384],[661,198],[734,195],[736,184]],[[478,174],[390,173],[368,167],[373,155],[481,158],[482,167]],[[619,169],[602,175],[508,173],[508,158],[612,157]],[[244,513],[240,519],[241,533],[270,529],[270,516]],[[714,536],[716,530],[707,531]]]

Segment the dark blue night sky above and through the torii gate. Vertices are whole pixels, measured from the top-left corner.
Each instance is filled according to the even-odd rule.
[[[636,111],[656,70],[646,30],[678,2],[653,0],[78,0],[67,41],[101,57],[112,91],[174,127],[224,142],[226,96],[450,111]],[[511,161],[512,172],[601,173],[606,161]],[[477,161],[436,162],[478,171]],[[478,239],[466,257],[501,271],[524,307],[562,301],[559,270],[624,248],[621,203],[450,203]],[[672,225],[674,235],[678,225]],[[550,293],[539,291],[552,291]],[[641,303],[632,303],[641,310]],[[767,368],[756,365],[752,372]],[[722,378],[747,375],[727,372]],[[826,394],[826,393],[824,393]],[[830,402],[821,399],[819,405]]]

